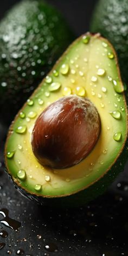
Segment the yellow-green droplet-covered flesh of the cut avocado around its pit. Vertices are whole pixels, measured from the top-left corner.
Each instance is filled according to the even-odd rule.
[[[87,34],[85,37],[89,37],[89,42],[84,43],[82,36],[67,49],[48,77],[31,95],[34,104],[31,106],[25,104],[10,127],[5,155],[14,152],[14,156],[10,159],[6,157],[8,172],[18,187],[29,194],[62,197],[91,187],[111,169],[123,151],[127,137],[127,109],[116,53],[111,44],[99,34],[94,36]],[[108,57],[108,53],[113,53],[113,59]],[[63,64],[68,65],[69,68],[65,75],[60,72]],[[105,73],[98,75],[99,69],[104,70]],[[55,76],[57,72],[58,76]],[[117,82],[116,90],[120,93],[115,91],[113,81],[114,84],[115,81]],[[61,86],[51,92],[49,90],[53,82]],[[99,140],[92,152],[74,167],[60,170],[42,167],[31,149],[31,132],[35,120],[50,103],[63,97],[65,87],[71,88],[72,94],[80,94],[80,91],[76,93],[78,86],[86,90],[82,95],[91,100],[99,112],[101,120]],[[39,104],[41,100],[42,105]],[[32,111],[37,114],[36,117],[28,118]],[[120,113],[119,120],[112,117],[110,112],[113,111]],[[21,112],[25,113],[25,118],[20,118]],[[17,127],[24,125],[27,127],[24,133],[15,132]],[[115,133],[121,133],[119,141],[113,139]],[[20,169],[25,170],[26,178],[23,181],[17,178]],[[46,175],[50,176],[50,181],[46,181]],[[40,191],[35,190],[36,184],[41,184]]]

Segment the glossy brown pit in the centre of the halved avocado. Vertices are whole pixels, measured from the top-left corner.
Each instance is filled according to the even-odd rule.
[[[97,143],[100,117],[87,98],[75,95],[50,104],[35,122],[31,145],[42,165],[68,168],[84,159]]]

